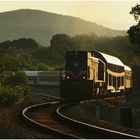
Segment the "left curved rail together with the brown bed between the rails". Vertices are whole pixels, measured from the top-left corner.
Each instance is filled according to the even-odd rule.
[[[61,103],[59,101],[32,105],[22,111],[22,118],[30,126],[43,132],[51,132],[57,138],[82,138],[74,128],[68,128],[56,121],[55,111]]]

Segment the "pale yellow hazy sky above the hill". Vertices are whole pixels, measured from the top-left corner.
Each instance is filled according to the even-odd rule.
[[[74,1],[74,0],[18,0],[1,1],[0,12],[16,9],[39,9],[43,11],[71,15],[96,22],[112,29],[127,30],[134,25],[134,18],[129,14],[131,7],[139,1]]]

